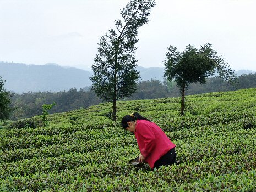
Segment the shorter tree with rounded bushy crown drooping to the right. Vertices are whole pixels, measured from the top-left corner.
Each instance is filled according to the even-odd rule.
[[[173,46],[167,49],[164,75],[169,81],[174,79],[181,91],[180,115],[184,115],[185,89],[190,83],[203,84],[206,78],[213,76],[215,72],[222,80],[235,82],[235,72],[215,50],[211,49],[210,43],[201,46],[199,50],[192,45],[187,46],[184,52],[178,52]]]

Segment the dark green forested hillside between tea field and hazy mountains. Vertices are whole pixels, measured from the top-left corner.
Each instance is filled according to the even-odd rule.
[[[191,84],[186,91],[187,95],[233,91],[242,88],[256,87],[256,74],[241,75],[238,78],[237,87],[231,87],[228,82],[217,77],[209,78],[205,84]],[[138,91],[132,97],[125,100],[156,99],[167,97],[178,97],[179,90],[175,82],[160,82],[159,80],[146,80],[137,84]],[[36,92],[14,94],[12,106],[15,109],[12,120],[30,118],[41,115],[42,105],[56,103],[51,113],[65,112],[80,108],[87,108],[91,105],[102,103],[93,91],[82,91],[75,88],[61,92]]]

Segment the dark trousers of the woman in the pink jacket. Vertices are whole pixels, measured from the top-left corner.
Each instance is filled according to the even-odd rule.
[[[160,166],[168,166],[174,164],[176,161],[176,151],[175,148],[170,149],[165,155],[161,156],[154,164],[154,168],[159,168]]]

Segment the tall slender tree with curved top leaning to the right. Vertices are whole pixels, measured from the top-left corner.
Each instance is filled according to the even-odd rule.
[[[138,29],[148,22],[154,0],[131,0],[121,10],[122,19],[115,21],[116,29],[110,29],[100,38],[92,70],[92,90],[113,102],[112,119],[116,121],[116,102],[136,91],[139,72],[134,57]]]

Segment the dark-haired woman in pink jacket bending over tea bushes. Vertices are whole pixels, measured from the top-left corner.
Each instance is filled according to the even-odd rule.
[[[139,162],[147,162],[153,168],[175,163],[175,144],[154,122],[134,112],[122,118],[122,127],[135,134],[140,155]]]

